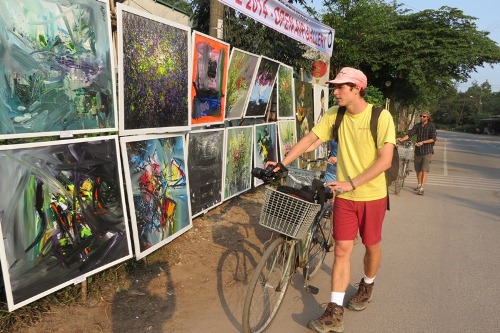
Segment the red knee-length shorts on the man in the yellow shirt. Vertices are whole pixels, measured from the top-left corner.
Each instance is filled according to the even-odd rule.
[[[374,201],[335,198],[333,206],[335,240],[354,240],[359,230],[359,235],[366,246],[380,243],[382,223],[387,210],[387,197]]]

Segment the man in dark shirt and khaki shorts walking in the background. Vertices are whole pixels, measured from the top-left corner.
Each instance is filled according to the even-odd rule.
[[[417,191],[418,195],[424,195],[424,185],[427,181],[427,175],[431,167],[432,155],[434,154],[434,143],[436,142],[436,127],[431,123],[431,115],[424,111],[420,115],[420,122],[413,126],[408,133],[398,138],[398,142],[404,142],[412,136],[417,136],[415,143],[414,167],[417,173]]]

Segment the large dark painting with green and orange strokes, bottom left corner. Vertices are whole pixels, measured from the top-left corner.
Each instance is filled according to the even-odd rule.
[[[12,311],[132,256],[116,136],[0,146]]]

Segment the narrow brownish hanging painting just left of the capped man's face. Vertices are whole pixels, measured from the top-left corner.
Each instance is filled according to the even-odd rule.
[[[313,89],[312,84],[295,79],[295,107],[296,107],[296,126],[297,126],[297,141],[300,141],[314,127],[314,111],[313,111]],[[314,151],[304,153],[299,159],[299,168],[305,169],[307,161],[303,159],[314,159]]]

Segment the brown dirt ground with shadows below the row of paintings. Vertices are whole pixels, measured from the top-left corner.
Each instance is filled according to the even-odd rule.
[[[245,285],[271,235],[258,225],[263,191],[252,189],[196,217],[191,230],[166,245],[173,254],[168,260],[153,253],[154,264],[146,257],[147,269],[133,270],[121,286],[52,306],[36,325],[15,333],[240,331]]]

